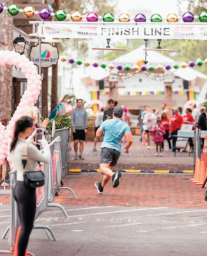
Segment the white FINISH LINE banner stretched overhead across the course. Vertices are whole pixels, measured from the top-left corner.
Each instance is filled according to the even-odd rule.
[[[207,40],[204,23],[30,22],[47,38],[128,38]]]

